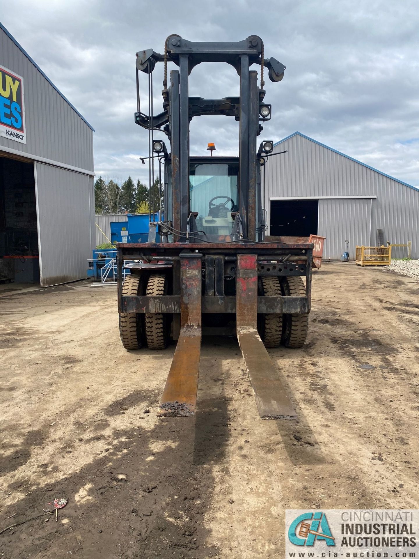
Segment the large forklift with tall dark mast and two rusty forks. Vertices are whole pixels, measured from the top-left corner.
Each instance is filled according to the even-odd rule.
[[[179,69],[170,71],[167,64]],[[239,75],[240,96],[189,97],[196,65],[225,62]],[[153,70],[164,64],[163,111],[153,114]],[[258,72],[252,65],[260,66]],[[301,348],[311,304],[313,244],[265,235],[264,165],[271,140],[257,148],[272,106],[264,102],[264,72],[280,82],[285,66],[264,58],[260,37],[239,42],[193,42],[170,35],[164,54],[136,54],[136,124],[149,135],[150,225],[146,243],[117,243],[120,335],[128,350],[164,349],[177,342],[160,411],[194,415],[202,335],[236,335],[261,419],[294,419],[296,412],[266,348]],[[141,110],[139,72],[148,77]],[[200,115],[239,121],[239,157],[189,155],[189,122]],[[168,146],[155,139],[156,131]],[[284,153],[284,152],[282,152]],[[156,161],[155,161],[156,160]],[[154,165],[164,167],[151,196]],[[261,178],[263,177],[263,178]],[[155,190],[155,189],[154,189]],[[156,219],[156,206],[163,207]],[[134,262],[125,264],[127,261]],[[123,280],[123,270],[130,274]]]

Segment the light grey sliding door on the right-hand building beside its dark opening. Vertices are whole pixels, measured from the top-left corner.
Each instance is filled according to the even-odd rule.
[[[340,260],[349,240],[349,259],[355,259],[356,245],[370,244],[371,204],[369,199],[318,201],[318,234],[326,237],[323,260]]]

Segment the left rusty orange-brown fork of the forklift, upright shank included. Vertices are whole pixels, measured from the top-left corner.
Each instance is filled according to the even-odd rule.
[[[194,415],[201,356],[201,258],[180,258],[180,335],[170,366],[161,414]]]

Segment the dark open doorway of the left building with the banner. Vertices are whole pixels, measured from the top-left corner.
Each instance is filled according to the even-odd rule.
[[[34,164],[0,157],[0,283],[39,283]]]

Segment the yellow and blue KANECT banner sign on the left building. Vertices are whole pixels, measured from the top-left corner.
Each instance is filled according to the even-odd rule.
[[[0,66],[0,136],[26,144],[23,78]]]

